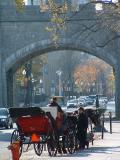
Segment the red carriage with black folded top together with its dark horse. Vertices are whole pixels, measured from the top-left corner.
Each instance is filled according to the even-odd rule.
[[[78,145],[75,115],[66,114],[60,118],[57,107],[10,108],[9,112],[17,125],[11,136],[11,144],[19,141],[20,155],[24,146],[27,146],[28,150],[31,144],[38,156],[42,154],[44,145],[47,145],[50,156],[56,156],[59,149],[62,149],[63,153],[75,152]],[[97,125],[99,116],[96,110],[88,109],[87,114]]]

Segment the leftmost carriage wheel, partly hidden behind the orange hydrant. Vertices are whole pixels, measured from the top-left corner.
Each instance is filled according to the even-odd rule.
[[[21,156],[21,154],[22,154],[22,141],[21,141],[21,137],[20,137],[20,133],[19,133],[18,129],[15,129],[11,135],[11,144],[16,141],[20,141],[19,156]]]

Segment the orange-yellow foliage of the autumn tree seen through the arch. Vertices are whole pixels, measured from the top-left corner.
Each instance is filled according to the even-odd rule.
[[[88,85],[93,85],[97,81],[100,73],[107,72],[108,67],[108,64],[99,59],[90,59],[87,64],[80,65],[75,69],[74,77],[76,85],[80,87],[81,82],[84,84],[84,86],[82,85],[83,88],[88,87]],[[109,78],[111,78],[111,80],[113,79],[112,76]]]

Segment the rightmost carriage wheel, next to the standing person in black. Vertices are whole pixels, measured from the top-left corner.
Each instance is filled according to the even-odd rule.
[[[67,149],[70,154],[75,152],[75,134],[74,132],[70,131],[67,135]]]

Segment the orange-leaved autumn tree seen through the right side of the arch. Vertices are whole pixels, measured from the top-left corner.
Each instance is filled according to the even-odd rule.
[[[75,84],[84,93],[93,92],[107,94],[107,77],[109,75],[110,66],[105,62],[93,58],[89,59],[84,65],[76,67],[74,72]],[[95,91],[94,91],[95,92]]]

